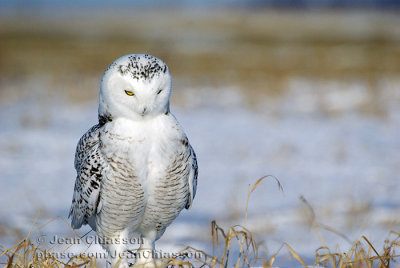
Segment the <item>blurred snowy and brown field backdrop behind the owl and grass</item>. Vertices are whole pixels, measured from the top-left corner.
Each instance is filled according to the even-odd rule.
[[[267,179],[250,197],[262,255],[287,242],[311,264],[323,243],[400,230],[399,1],[0,0],[2,245],[67,217],[102,73],[128,53],[168,64],[199,161],[194,206],[158,248],[211,252],[210,221],[243,224],[264,175],[284,191]],[[321,241],[316,222],[342,235]],[[73,236],[62,220],[41,232]]]

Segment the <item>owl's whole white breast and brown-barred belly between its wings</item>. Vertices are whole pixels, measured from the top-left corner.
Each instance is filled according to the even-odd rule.
[[[162,226],[169,225],[188,194],[183,138],[174,121],[168,120],[119,119],[105,128],[101,147],[109,169],[102,190],[109,215],[103,218],[126,214],[120,227],[133,229],[138,224],[160,224],[160,217]]]

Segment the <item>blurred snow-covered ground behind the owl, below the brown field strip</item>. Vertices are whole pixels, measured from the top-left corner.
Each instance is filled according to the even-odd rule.
[[[379,248],[389,230],[400,229],[400,82],[382,81],[380,87],[375,99],[357,81],[293,79],[284,95],[252,108],[235,87],[177,90],[185,101],[173,101],[171,110],[198,155],[199,184],[192,209],[167,229],[158,248],[174,252],[190,245],[211,252],[211,220],[223,227],[243,224],[247,187],[264,175],[284,188],[266,179],[250,197],[248,226],[269,256],[287,242],[312,263],[321,246],[300,196],[318,223],[350,241],[366,235]],[[383,115],[359,111],[371,98]],[[39,211],[36,227],[67,217],[75,146],[96,120],[96,102],[28,94],[1,104],[0,244],[15,243],[15,233],[26,235]],[[351,246],[321,232],[332,249]],[[72,236],[62,220],[41,233],[49,240]]]

